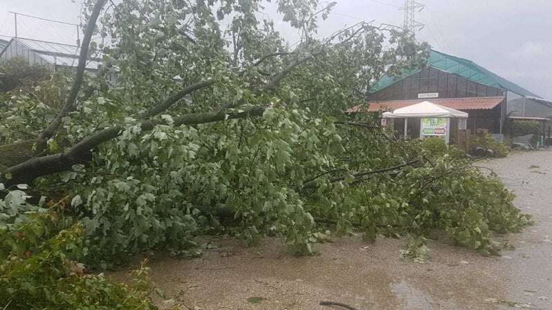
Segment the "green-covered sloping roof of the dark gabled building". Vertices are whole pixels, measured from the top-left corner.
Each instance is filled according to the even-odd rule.
[[[486,86],[505,88],[514,93],[517,93],[518,95],[540,97],[538,95],[535,95],[534,93],[531,93],[529,90],[526,90],[525,88],[522,88],[521,86],[508,81],[507,79],[495,75],[495,73],[490,72],[486,68],[483,68],[468,59],[454,57],[443,52],[431,50],[428,65],[432,66],[433,68],[443,70],[445,72],[460,75],[461,77],[466,77],[466,79],[469,79],[470,81],[475,81]],[[383,79],[380,79],[380,81],[378,81],[378,83],[376,83],[376,85],[371,88],[370,93],[375,93],[378,90],[382,90],[383,88],[391,86],[396,81],[403,79],[404,77],[407,77],[409,75],[414,75],[419,71],[420,69],[405,70],[400,76],[383,77]]]

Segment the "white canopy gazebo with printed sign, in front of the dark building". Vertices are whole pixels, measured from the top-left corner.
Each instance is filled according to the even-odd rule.
[[[385,118],[404,118],[405,119],[405,139],[407,136],[408,119],[410,117],[420,118],[420,137],[444,137],[446,144],[450,139],[450,117],[458,117],[461,126],[466,128],[466,118],[468,113],[445,106],[439,106],[430,101],[423,101],[412,106],[398,108],[393,112],[383,113]]]

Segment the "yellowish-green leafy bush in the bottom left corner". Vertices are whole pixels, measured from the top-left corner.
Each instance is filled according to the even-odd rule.
[[[10,191],[0,206],[28,210],[25,197]],[[88,275],[78,261],[88,251],[82,224],[59,218],[55,206],[26,213],[26,219],[0,221],[3,309],[156,309],[146,267],[133,272],[129,286]]]

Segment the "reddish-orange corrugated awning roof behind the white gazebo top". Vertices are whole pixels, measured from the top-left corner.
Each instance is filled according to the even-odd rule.
[[[391,100],[369,102],[368,111],[396,110],[412,104],[419,104],[423,101],[430,101],[439,106],[454,108],[455,110],[489,110],[498,106],[504,97],[470,97],[470,98],[443,98],[443,99],[416,99],[416,100]],[[365,112],[362,106],[355,106],[347,110],[348,113]]]

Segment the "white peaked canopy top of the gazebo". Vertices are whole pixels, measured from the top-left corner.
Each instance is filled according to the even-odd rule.
[[[468,117],[468,113],[439,106],[439,104],[434,104],[430,101],[423,101],[412,106],[398,108],[393,112],[385,112],[383,113],[383,117]]]

